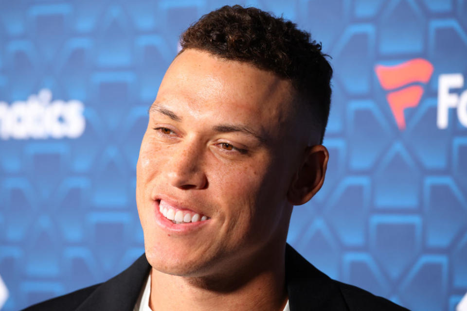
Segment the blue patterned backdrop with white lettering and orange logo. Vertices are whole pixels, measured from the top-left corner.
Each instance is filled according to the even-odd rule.
[[[233,1],[0,2],[0,308],[104,281],[144,252],[136,161],[179,35]],[[288,242],[412,310],[467,292],[467,1],[240,1],[332,56],[323,189]],[[465,310],[465,309],[464,309]]]

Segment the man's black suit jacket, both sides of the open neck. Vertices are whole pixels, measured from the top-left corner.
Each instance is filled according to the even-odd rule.
[[[150,265],[143,254],[124,272],[107,282],[41,302],[24,310],[132,311],[149,269]],[[290,311],[407,310],[358,287],[329,278],[288,244],[286,282]]]

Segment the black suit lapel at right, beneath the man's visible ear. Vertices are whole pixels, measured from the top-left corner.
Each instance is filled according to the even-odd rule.
[[[289,244],[286,246],[286,282],[290,311],[347,310],[336,282]]]

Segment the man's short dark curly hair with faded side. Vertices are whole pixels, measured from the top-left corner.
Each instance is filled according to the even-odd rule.
[[[288,79],[310,104],[313,128],[323,143],[331,103],[332,68],[321,43],[282,17],[257,8],[223,6],[202,16],[180,38],[185,49],[210,52],[221,58],[251,63]]]

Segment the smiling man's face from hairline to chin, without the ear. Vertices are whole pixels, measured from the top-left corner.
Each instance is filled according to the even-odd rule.
[[[292,99],[289,82],[269,71],[198,50],[176,57],[150,109],[137,164],[153,268],[222,273],[284,246],[287,190],[307,139]]]

